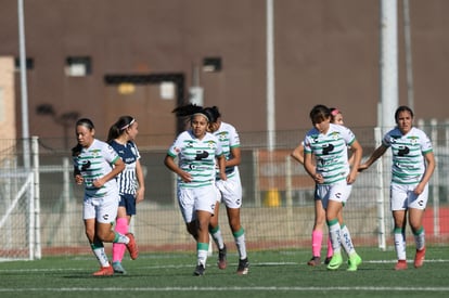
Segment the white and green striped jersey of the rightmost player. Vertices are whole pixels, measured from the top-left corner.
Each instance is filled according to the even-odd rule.
[[[426,167],[424,155],[433,152],[431,140],[425,132],[412,127],[407,134],[402,134],[395,128],[384,135],[382,144],[392,147],[392,182],[419,183]]]

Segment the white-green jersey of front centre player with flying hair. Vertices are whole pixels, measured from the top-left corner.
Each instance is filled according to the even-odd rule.
[[[207,132],[200,140],[191,130],[184,131],[178,135],[167,154],[178,157],[179,168],[192,176],[192,181],[188,183],[178,177],[180,187],[195,189],[214,184],[216,157],[222,155],[221,145],[214,134]]]

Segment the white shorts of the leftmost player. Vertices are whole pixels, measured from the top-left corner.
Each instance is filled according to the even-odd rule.
[[[104,197],[85,197],[82,203],[82,219],[94,218],[101,223],[112,223],[117,217],[118,193]]]

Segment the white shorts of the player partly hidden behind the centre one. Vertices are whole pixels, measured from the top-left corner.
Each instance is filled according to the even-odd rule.
[[[226,181],[219,180],[215,185],[217,186],[217,202],[224,203],[228,208],[242,207],[242,183],[239,173]]]

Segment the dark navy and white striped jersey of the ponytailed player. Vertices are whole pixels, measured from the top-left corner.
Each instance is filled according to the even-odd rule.
[[[121,194],[134,195],[138,187],[136,165],[140,159],[140,153],[134,142],[128,141],[125,145],[115,140],[110,142],[125,163],[125,170],[117,176],[118,191]]]

